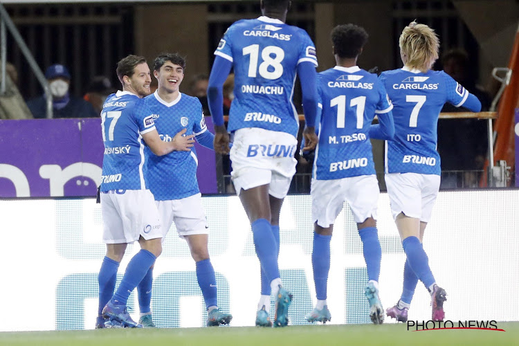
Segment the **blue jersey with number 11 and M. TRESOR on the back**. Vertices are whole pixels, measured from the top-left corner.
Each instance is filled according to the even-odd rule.
[[[322,111],[316,119],[319,142],[313,178],[375,174],[370,125],[375,113],[392,109],[383,84],[358,66],[335,66],[318,73],[318,95]]]

